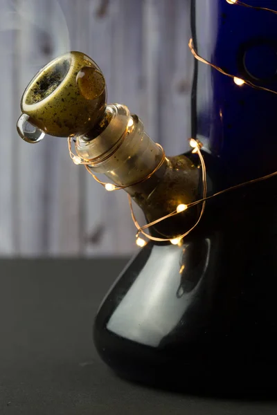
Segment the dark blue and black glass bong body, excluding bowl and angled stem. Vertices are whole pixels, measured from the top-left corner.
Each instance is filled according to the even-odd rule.
[[[226,0],[192,1],[191,13],[200,56],[277,91],[276,15]],[[274,93],[195,62],[192,132],[208,149],[209,194],[276,170],[276,104]],[[93,329],[100,356],[120,376],[199,393],[274,391],[276,184],[213,199],[183,246],[151,242],[131,261]]]

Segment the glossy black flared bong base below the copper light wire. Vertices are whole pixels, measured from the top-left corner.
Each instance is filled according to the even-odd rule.
[[[167,389],[275,391],[276,184],[211,201],[183,246],[148,243],[139,252],[94,324],[107,365]]]

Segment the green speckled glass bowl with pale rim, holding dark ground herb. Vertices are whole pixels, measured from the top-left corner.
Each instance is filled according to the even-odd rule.
[[[28,122],[51,136],[87,133],[106,109],[100,68],[80,52],[53,59],[35,75],[21,99]]]

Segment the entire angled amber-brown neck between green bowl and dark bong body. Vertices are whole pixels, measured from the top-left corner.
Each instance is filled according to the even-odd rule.
[[[145,133],[141,120],[123,105],[109,105],[104,118],[109,122],[100,134],[91,139],[89,133],[78,136],[75,149],[93,175],[105,174],[111,180],[106,190],[114,190],[113,185],[124,187],[148,223],[199,198],[198,163],[185,155],[166,157]],[[101,123],[105,125],[105,120]],[[192,208],[155,225],[154,231],[172,239],[191,228],[198,216],[198,209]]]

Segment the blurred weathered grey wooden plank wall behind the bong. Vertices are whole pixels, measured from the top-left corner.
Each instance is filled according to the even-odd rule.
[[[66,140],[23,142],[24,88],[53,57],[81,50],[109,102],[127,104],[168,155],[190,134],[189,0],[0,0],[0,255],[125,255],[136,250],[124,192],[105,192]],[[143,215],[136,210],[140,219]]]

